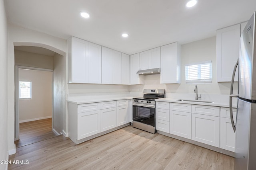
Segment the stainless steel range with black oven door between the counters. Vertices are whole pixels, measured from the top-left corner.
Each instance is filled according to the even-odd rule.
[[[165,98],[165,89],[144,89],[143,97],[133,98],[132,127],[155,133],[155,99]]]

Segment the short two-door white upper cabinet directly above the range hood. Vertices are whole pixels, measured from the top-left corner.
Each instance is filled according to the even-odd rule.
[[[140,70],[160,67],[160,47],[140,53]]]

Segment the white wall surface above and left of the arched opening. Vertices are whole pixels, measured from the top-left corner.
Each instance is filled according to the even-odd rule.
[[[2,10],[1,10],[2,12]],[[1,15],[2,17],[2,15]],[[2,41],[2,40],[1,40]],[[40,33],[31,29],[8,24],[8,150],[15,150],[14,145],[14,45],[28,45],[50,49],[56,53],[66,56],[67,43],[65,39],[53,37],[46,33]],[[64,77],[65,79],[66,77]],[[62,90],[64,93],[65,90]],[[66,104],[66,103],[65,103]],[[65,113],[64,113],[65,114]],[[66,120],[64,120],[66,121]]]

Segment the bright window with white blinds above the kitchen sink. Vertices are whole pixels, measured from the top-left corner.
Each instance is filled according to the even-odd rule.
[[[185,65],[186,84],[212,83],[212,61]]]

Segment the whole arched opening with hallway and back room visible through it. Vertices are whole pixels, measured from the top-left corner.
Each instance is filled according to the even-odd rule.
[[[60,55],[61,51],[48,45],[16,44],[14,141],[17,148],[65,132],[66,55]],[[61,94],[60,85],[64,92]]]

